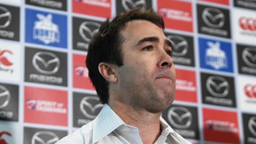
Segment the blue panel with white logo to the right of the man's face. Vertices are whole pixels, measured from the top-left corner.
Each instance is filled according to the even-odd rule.
[[[233,72],[232,48],[229,42],[199,38],[200,67]]]

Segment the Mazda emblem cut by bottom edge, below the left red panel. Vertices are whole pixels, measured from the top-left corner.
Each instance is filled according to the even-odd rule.
[[[36,132],[31,140],[31,144],[54,144],[59,140],[59,137],[50,131]]]

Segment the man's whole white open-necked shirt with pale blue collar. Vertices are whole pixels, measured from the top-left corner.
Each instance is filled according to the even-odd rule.
[[[191,144],[175,133],[161,117],[160,125],[162,132],[154,144]],[[104,104],[95,120],[55,144],[143,144],[143,142],[137,127],[125,124],[108,104]]]

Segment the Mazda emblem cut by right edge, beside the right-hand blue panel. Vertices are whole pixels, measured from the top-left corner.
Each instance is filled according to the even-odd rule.
[[[256,48],[245,48],[242,53],[242,58],[246,65],[256,68]]]

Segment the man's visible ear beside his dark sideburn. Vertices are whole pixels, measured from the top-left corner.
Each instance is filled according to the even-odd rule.
[[[107,80],[113,83],[118,81],[116,67],[113,64],[101,62],[98,65],[100,74]]]

